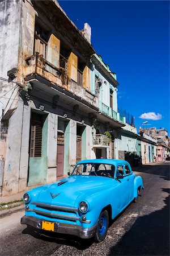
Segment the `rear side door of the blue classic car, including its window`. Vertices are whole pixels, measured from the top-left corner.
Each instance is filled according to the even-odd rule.
[[[125,172],[125,177],[126,180],[128,181],[128,189],[129,189],[129,201],[133,200],[133,195],[134,195],[134,179],[135,175],[131,171],[131,168],[129,164],[124,164],[124,172]]]

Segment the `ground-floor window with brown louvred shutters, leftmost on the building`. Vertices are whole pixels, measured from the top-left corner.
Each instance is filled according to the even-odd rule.
[[[32,113],[30,134],[30,157],[40,157],[42,153],[42,117]]]

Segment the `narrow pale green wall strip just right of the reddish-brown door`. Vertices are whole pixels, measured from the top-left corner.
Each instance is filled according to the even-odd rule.
[[[69,166],[69,148],[70,148],[70,122],[65,129],[65,148],[64,148],[64,170],[63,174],[67,174],[70,170]]]

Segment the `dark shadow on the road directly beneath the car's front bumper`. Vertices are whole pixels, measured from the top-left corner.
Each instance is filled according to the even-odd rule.
[[[70,236],[66,234],[57,234],[51,232],[45,232],[44,230],[35,230],[33,228],[27,227],[23,230],[23,234],[29,234],[32,237],[35,237],[40,240],[47,242],[57,243],[59,245],[68,245],[76,247],[78,250],[87,249],[94,243],[94,238],[88,240],[82,240],[79,237]]]

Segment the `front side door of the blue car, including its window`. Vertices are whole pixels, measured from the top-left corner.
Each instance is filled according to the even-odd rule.
[[[116,170],[116,177],[118,175],[122,175],[123,178],[117,180],[117,183],[121,183],[118,187],[120,189],[120,195],[121,195],[121,209],[125,207],[126,204],[129,203],[129,183],[128,183],[128,179],[125,176],[125,172],[124,172],[124,165],[123,164],[119,164],[117,166],[117,170]]]

